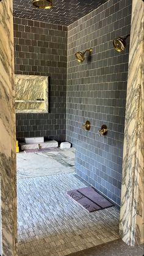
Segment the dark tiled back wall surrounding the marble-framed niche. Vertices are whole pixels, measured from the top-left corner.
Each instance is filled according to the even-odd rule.
[[[49,113],[16,114],[16,138],[65,140],[67,26],[14,17],[15,73],[49,77]]]

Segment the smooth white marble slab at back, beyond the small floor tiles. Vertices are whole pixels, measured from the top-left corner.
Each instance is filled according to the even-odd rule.
[[[16,154],[17,177],[34,178],[74,172],[74,148]]]

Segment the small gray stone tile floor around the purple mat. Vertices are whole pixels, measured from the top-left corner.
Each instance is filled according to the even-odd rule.
[[[88,213],[67,195],[73,173],[18,179],[18,256],[63,256],[117,239],[115,207]]]

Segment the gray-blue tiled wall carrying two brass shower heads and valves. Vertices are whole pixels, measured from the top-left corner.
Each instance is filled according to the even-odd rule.
[[[118,53],[112,40],[130,34],[132,1],[110,0],[68,26],[67,141],[76,173],[120,206],[129,39]],[[74,53],[93,48],[77,62]],[[90,131],[82,129],[89,120]],[[99,137],[103,124],[106,137]]]

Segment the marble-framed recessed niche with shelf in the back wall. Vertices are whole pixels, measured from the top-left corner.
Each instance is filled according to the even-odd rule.
[[[16,113],[48,112],[48,77],[15,75]]]

